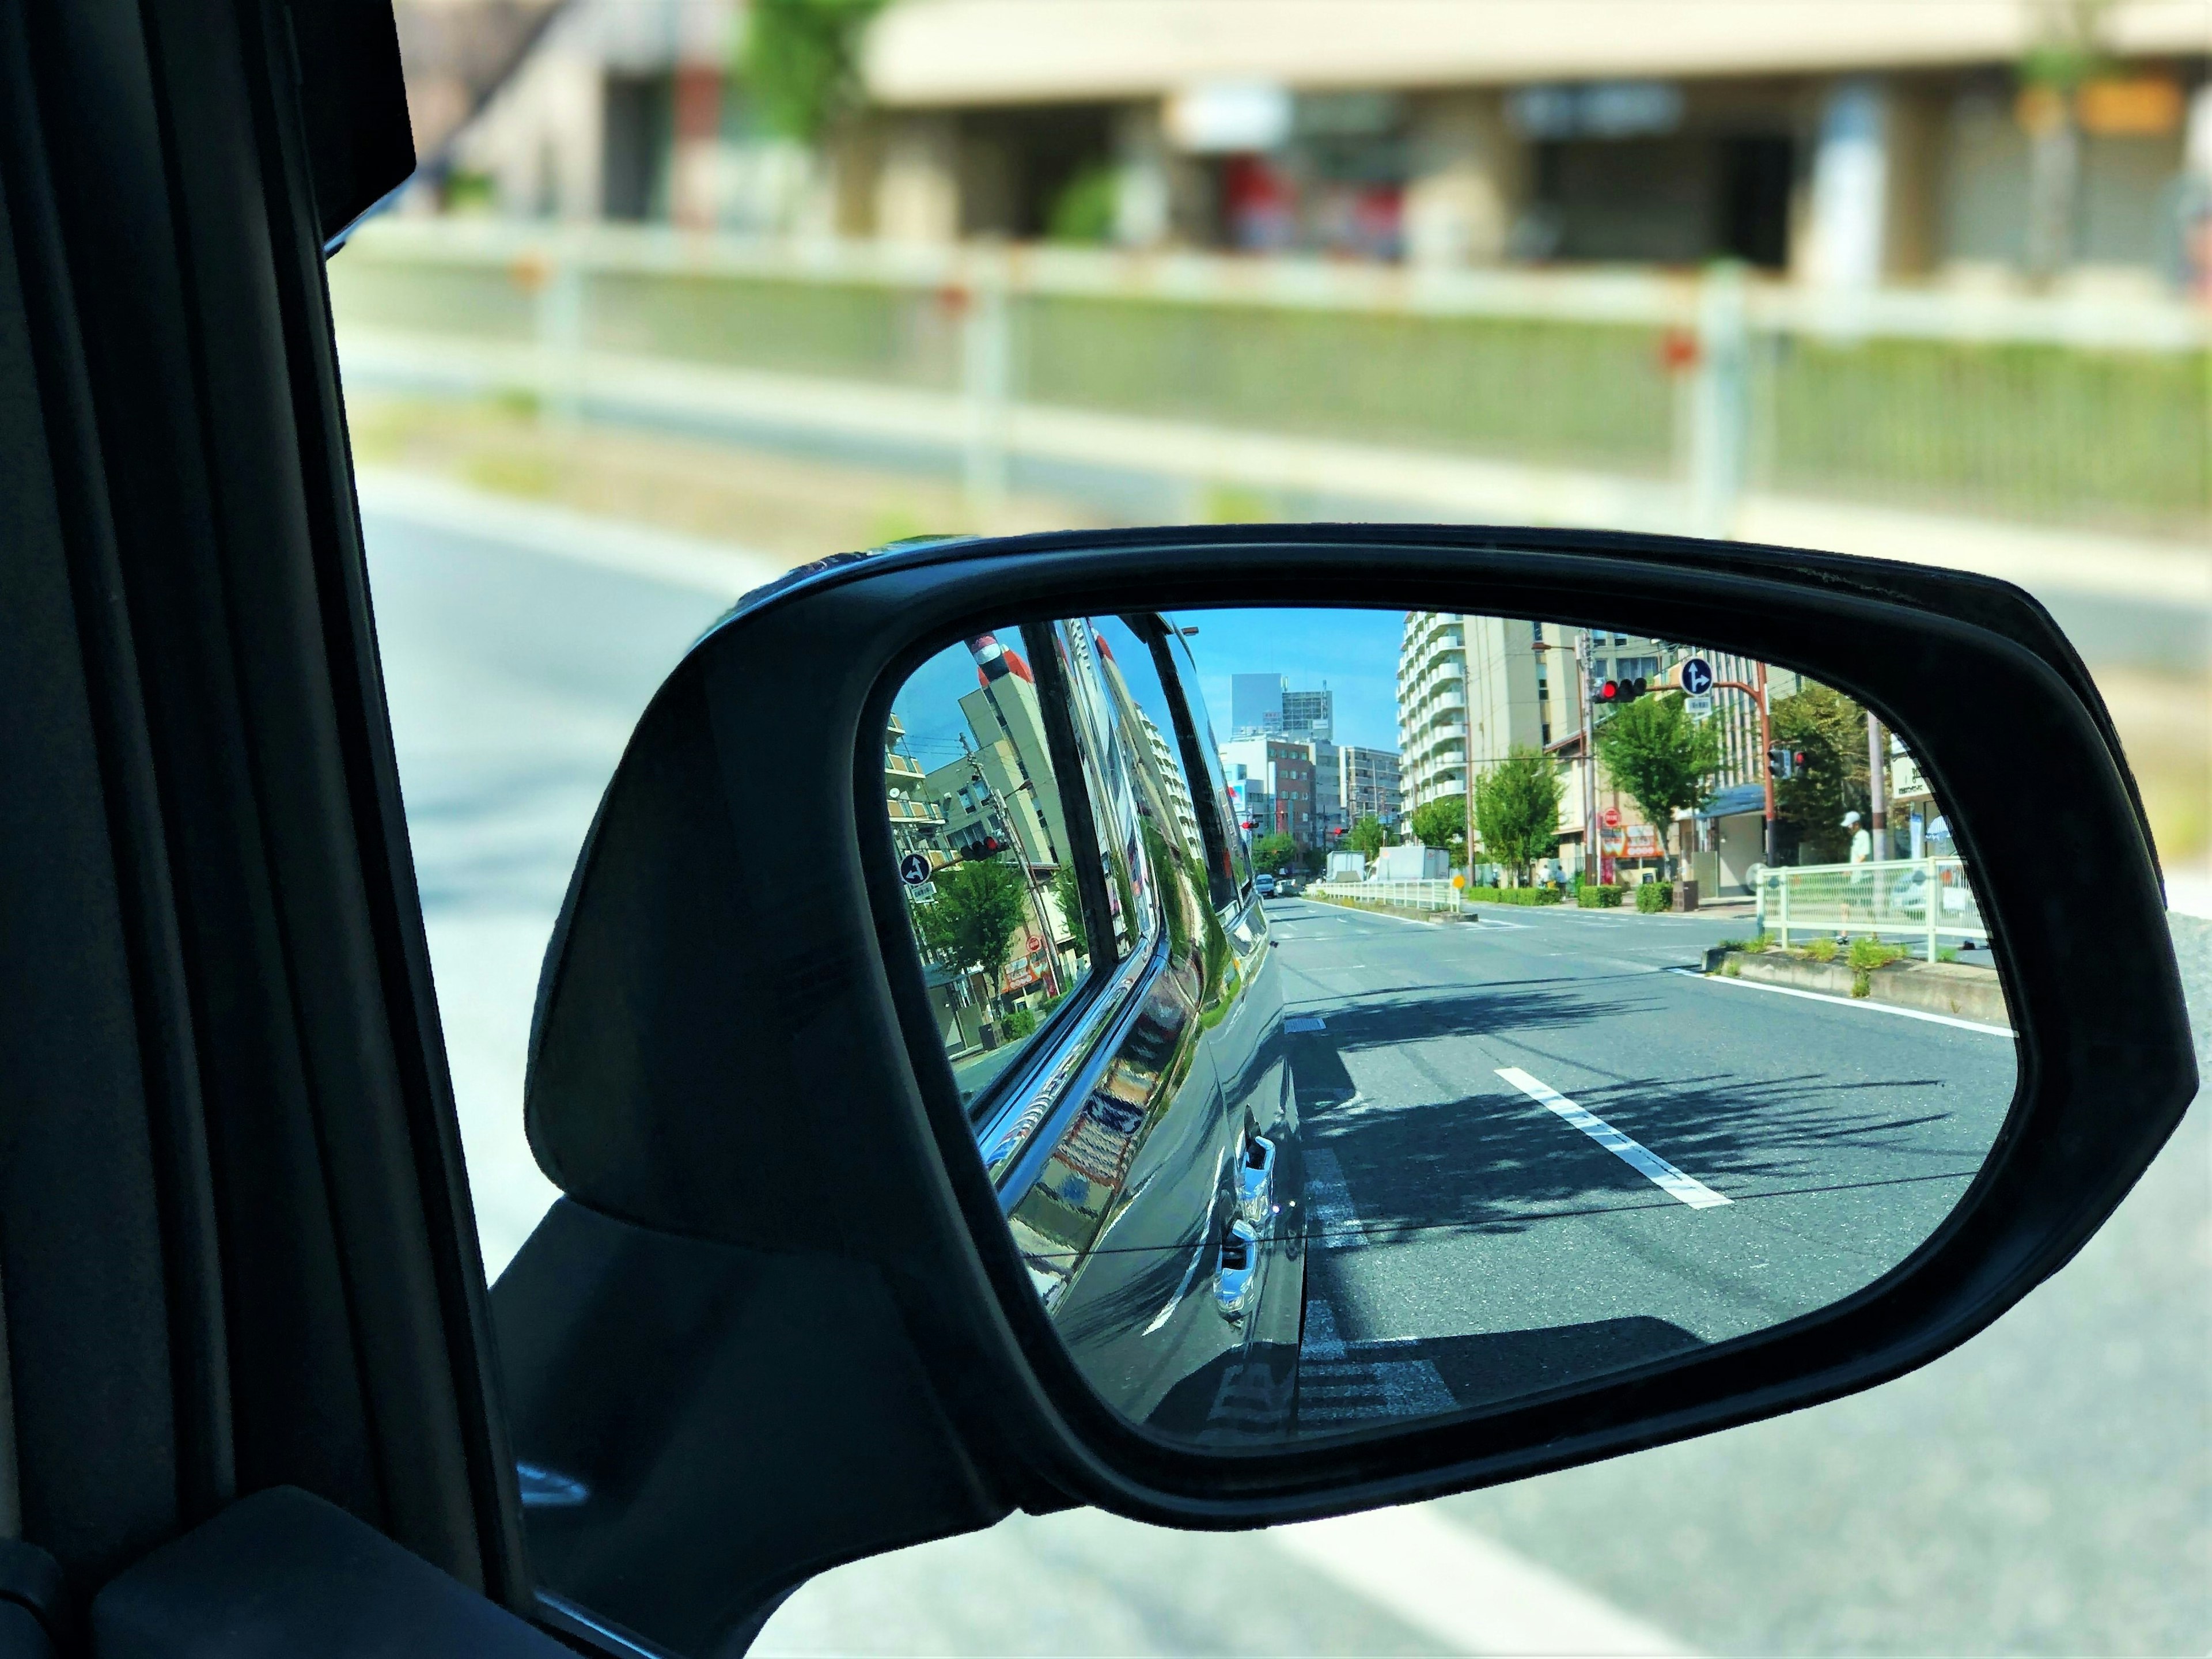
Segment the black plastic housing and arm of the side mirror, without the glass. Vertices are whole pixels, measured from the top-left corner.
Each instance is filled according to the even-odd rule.
[[[1975,858],[2020,1033],[2011,1117],[1936,1237],[1790,1325],[1438,1425],[1201,1453],[1104,1409],[1002,1230],[980,1225],[998,1208],[951,1073],[911,1042],[929,1013],[907,967],[878,734],[905,672],[980,619],[1256,599],[1632,613],[1650,633],[1818,675],[1911,734]],[[2095,894],[2064,880],[2081,869],[2099,872]],[[529,1135],[568,1201],[493,1303],[518,1455],[597,1495],[533,1513],[533,1551],[564,1606],[688,1650],[838,1559],[1011,1506],[1252,1526],[1836,1398],[1955,1347],[2064,1265],[2194,1088],[2135,785],[2066,639],[2006,584],[1785,549],[1433,526],[847,555],[748,597],[655,697],[546,956]],[[781,1312],[763,1325],[763,1310]],[[648,1356],[637,1398],[580,1383],[591,1354],[626,1345]],[[863,1380],[825,1389],[825,1374]],[[675,1425],[726,1411],[794,1451],[701,1469]],[[885,1473],[816,1513],[796,1449],[823,1436],[876,1447]],[[728,1515],[785,1502],[814,1520],[748,1544],[732,1571]]]

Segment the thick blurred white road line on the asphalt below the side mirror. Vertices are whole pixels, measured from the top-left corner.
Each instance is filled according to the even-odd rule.
[[[1681,1655],[1624,1613],[1429,1504],[1276,1526],[1267,1542],[1451,1652]]]

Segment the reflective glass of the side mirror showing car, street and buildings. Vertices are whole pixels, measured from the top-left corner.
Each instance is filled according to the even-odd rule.
[[[1500,1407],[1814,1314],[2011,1106],[1942,801],[1778,664],[1632,617],[1130,613],[960,639],[894,708],[978,1155],[1082,1374],[1170,1438]]]

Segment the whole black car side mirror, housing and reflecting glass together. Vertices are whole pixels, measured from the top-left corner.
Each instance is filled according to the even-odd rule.
[[[1316,834],[1314,745],[1343,743],[1314,737],[1312,708],[1294,732],[1281,699],[1250,732],[1234,710],[1228,737],[1208,726],[1208,679],[1270,664],[1210,666],[1183,624],[1230,653],[1265,630],[1254,606],[1336,613],[1343,639],[1380,613],[1400,653],[1378,695],[1438,739],[1400,759],[1433,781],[1458,732],[1464,823],[1429,812],[1433,841],[1394,838],[1402,876],[1369,854],[1336,869],[1336,852],[1301,896],[1259,902],[1256,836],[1323,845],[1298,836]],[[1495,719],[1573,708],[1575,741],[1564,717],[1535,717],[1528,743],[1478,741],[1489,706],[1422,668],[1453,650],[1462,681],[1511,657]],[[1898,734],[1916,790],[1898,794],[1927,803],[1918,843],[1885,825],[1860,847],[1854,805],[1781,856],[1770,803],[1745,794],[1745,768],[1772,787],[1772,732],[1747,748],[1739,728],[1756,726],[1745,699],[1772,723],[1783,675],[1807,719]],[[1644,697],[1601,714],[1608,679],[1644,679]],[[1730,697],[1734,712],[1712,703]],[[1632,763],[1608,759],[1604,719],[1688,745],[1681,805],[1655,792],[1606,821],[1599,781]],[[1725,765],[1705,721],[1739,734]],[[1484,816],[1509,765],[1542,796],[1522,838]],[[1856,776],[1907,774],[1860,750]],[[1548,794],[1571,783],[1575,807]],[[1730,852],[1730,818],[1761,823],[1756,858]],[[1557,880],[1568,841],[1582,874],[1615,880]],[[2088,869],[2095,885],[2070,878]],[[1677,909],[1701,876],[1743,889],[1732,942]],[[1475,920],[1422,920],[1444,911]],[[1327,978],[1374,969],[1325,958],[1327,929],[1396,978]],[[1969,942],[1989,969],[1944,960]],[[1617,978],[1562,991],[1544,951],[1615,960]],[[1635,973],[1666,975],[1655,1018],[1756,1002],[1772,1013],[1730,1031],[1781,1033],[1805,1002],[1836,1046],[1761,1060],[1756,1102],[1710,1077],[1705,1099],[1670,1095],[1679,1053],[1601,1073],[1601,1033],[1582,1060],[1531,1057],[1566,1055],[1568,1029],[1628,1031],[1626,1000],[1661,995]],[[1942,995],[1964,1000],[1896,1002]],[[1878,1024],[1913,1033],[1911,1077],[1871,1075]],[[1420,1048],[1442,1040],[1467,1046]],[[1710,1071],[1752,1053],[1730,1042]],[[1391,1095],[1387,1066],[1422,1055],[1436,1075]],[[1734,1323],[1657,1281],[1619,1285],[1615,1312],[1546,1292],[1566,1259],[1531,1239],[1564,1237],[1571,1210],[1666,1225],[1666,1248],[1750,1239],[1754,1199],[1823,1183],[1805,1148],[1836,1119],[1798,1119],[1843,1113],[1823,1102],[1851,1099],[1860,1071],[1927,1097],[1849,1108],[1849,1272],[1843,1252],[1790,1254],[1801,1241],[1710,1256],[1752,1310]],[[493,1287],[546,1604],[580,1630],[708,1652],[830,1564],[1013,1506],[1256,1526],[1851,1394],[2055,1272],[2194,1086],[2124,757],[2064,637],[2006,584],[1425,526],[830,560],[750,595],[655,697],[546,953],[526,1110],[566,1199]],[[1787,1133],[1756,1141],[1745,1115],[1767,1104]],[[1427,1316],[1429,1292],[1394,1290],[1387,1259],[1447,1230],[1489,1254],[1438,1283],[1480,1276],[1489,1301],[1433,1314],[1460,1325],[1389,1325]],[[1464,1376],[1440,1349],[1391,1347],[1438,1340],[1460,1343]]]

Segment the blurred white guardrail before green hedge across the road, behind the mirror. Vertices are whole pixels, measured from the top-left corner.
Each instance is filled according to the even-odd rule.
[[[1015,458],[1075,462],[1292,515],[1688,529],[2212,604],[2194,540],[2081,529],[2201,520],[2185,358],[2212,310],[2172,299],[467,219],[363,228],[330,292],[354,387],[887,442],[956,460],[978,502]],[[1192,372],[1214,358],[1239,369]],[[2124,389],[2090,396],[2090,369]],[[2115,398],[2150,403],[2115,427]]]

